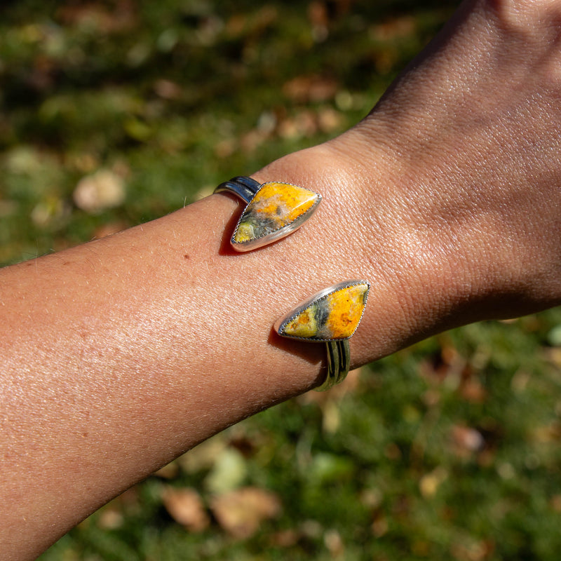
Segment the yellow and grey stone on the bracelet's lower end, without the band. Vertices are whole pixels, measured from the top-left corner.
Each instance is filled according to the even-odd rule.
[[[311,341],[349,339],[363,317],[369,288],[368,283],[358,283],[314,300],[283,323],[278,334]]]

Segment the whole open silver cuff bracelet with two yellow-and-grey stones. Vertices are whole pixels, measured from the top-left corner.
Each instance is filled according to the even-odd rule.
[[[215,193],[224,191],[246,203],[230,240],[232,248],[240,252],[292,234],[321,201],[319,194],[304,187],[276,181],[260,184],[245,176],[233,177],[215,189]],[[339,384],[349,372],[349,338],[363,317],[369,289],[366,280],[338,283],[300,303],[275,324],[281,337],[325,343],[327,377],[320,391]]]

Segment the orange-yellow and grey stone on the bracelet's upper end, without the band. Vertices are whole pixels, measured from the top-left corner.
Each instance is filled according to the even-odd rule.
[[[273,234],[303,217],[318,203],[317,193],[288,183],[264,183],[243,211],[234,243]]]

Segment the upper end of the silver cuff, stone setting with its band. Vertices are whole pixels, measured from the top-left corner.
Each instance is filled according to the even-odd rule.
[[[306,222],[318,208],[321,196],[304,187],[251,177],[234,177],[219,184],[215,193],[227,191],[247,205],[230,243],[236,251],[250,251],[280,240]]]

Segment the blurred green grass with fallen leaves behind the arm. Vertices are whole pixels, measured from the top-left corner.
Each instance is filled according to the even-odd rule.
[[[0,263],[337,135],[455,4],[4,0]],[[560,368],[559,309],[428,339],[217,435],[41,560],[556,561]]]

